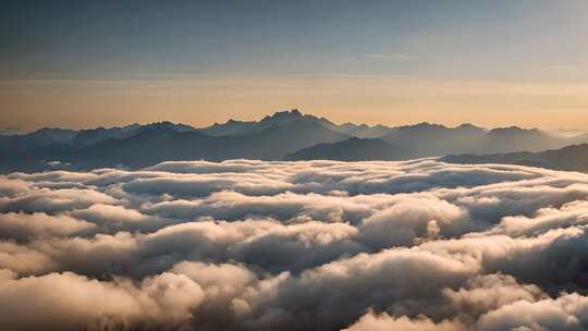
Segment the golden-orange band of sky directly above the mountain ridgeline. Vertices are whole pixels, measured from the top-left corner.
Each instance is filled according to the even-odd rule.
[[[424,81],[383,76],[20,81],[0,84],[0,122],[88,127],[162,120],[205,126],[298,108],[334,122],[522,125],[584,130],[588,84]]]

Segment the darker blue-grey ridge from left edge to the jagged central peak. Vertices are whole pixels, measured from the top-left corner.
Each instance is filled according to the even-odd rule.
[[[234,127],[235,122],[229,121],[228,125]],[[142,168],[164,160],[280,160],[289,152],[320,142],[333,143],[350,137],[323,123],[323,120],[292,110],[266,117],[255,125],[248,125],[247,130],[241,128],[238,134],[231,135],[218,135],[223,131],[237,132],[218,124],[195,128],[159,122],[66,131],[66,138],[58,140],[49,133],[54,131],[60,137],[64,133],[50,128],[29,135],[0,136],[0,171],[39,171],[59,164],[71,169]],[[210,130],[215,130],[217,135],[207,134]],[[49,136],[39,139],[39,132]]]

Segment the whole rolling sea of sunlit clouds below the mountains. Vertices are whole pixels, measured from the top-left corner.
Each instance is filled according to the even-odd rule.
[[[588,330],[588,175],[163,162],[0,176],[1,330]]]

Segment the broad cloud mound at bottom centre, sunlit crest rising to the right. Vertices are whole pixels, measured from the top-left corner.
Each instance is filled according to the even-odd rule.
[[[475,266],[463,261],[397,248],[359,254],[299,275],[281,274],[273,286],[241,299],[250,309],[247,323],[253,326],[274,327],[264,321],[271,321],[272,307],[279,307],[281,315],[299,321],[291,327],[294,330],[304,330],[303,326],[331,330],[344,327],[370,307],[397,314],[432,309],[442,289],[458,286],[475,272]]]

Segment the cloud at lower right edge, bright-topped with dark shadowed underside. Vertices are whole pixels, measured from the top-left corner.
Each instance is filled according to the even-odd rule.
[[[505,235],[464,236],[427,242],[417,249],[452,256],[479,266],[483,273],[503,272],[540,285],[556,294],[579,291],[588,281],[585,257],[586,229],[549,231],[540,236],[513,238]]]

